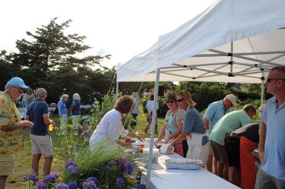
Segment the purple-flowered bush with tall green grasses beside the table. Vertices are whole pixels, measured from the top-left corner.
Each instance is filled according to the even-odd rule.
[[[111,144],[102,141],[93,151],[88,146],[90,135],[99,124],[103,115],[113,109],[115,94],[103,97],[101,106],[96,105],[93,113],[85,124],[78,124],[78,136],[69,131],[61,136],[63,150],[61,156],[66,159],[65,171],[61,178],[58,173],[46,175],[43,182],[38,180],[36,173],[31,171],[26,175],[26,188],[132,188],[137,181],[135,173],[138,168],[134,166],[133,155],[125,153],[122,149],[114,149]],[[131,119],[123,117],[123,122]],[[71,161],[72,160],[72,161]],[[132,175],[133,174],[133,175]],[[144,185],[141,185],[143,188]]]

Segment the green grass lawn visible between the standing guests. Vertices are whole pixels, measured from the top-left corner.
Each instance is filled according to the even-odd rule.
[[[145,124],[147,122],[147,116],[146,114],[142,113],[142,107],[140,107],[140,114],[138,114],[138,124],[135,127],[135,131],[139,131],[139,133],[144,137],[150,137],[150,129],[148,130],[148,134],[145,134]],[[57,125],[59,125],[59,117],[57,114],[53,114],[53,117],[51,117],[53,121],[56,122]],[[162,123],[164,119],[159,118],[158,120],[158,131],[160,131],[160,128],[162,126]],[[71,124],[71,117],[68,119],[68,128],[72,129]],[[62,145],[60,141],[58,140],[58,135],[56,135],[57,128],[53,131],[51,131],[51,138],[53,141],[53,163],[51,166],[51,173],[60,173],[62,175],[63,169],[65,166],[65,161],[61,157],[61,154],[58,153],[58,149],[62,148]],[[21,151],[21,153],[17,154],[16,157],[16,167],[15,167],[15,173],[14,175],[11,175],[7,179],[6,188],[25,188],[25,183],[23,180],[24,175],[28,175],[31,171],[31,160],[32,160],[32,151],[31,151],[31,142],[29,139],[29,129],[24,129],[24,150]],[[155,137],[157,135],[155,134]],[[73,151],[73,149],[71,149]],[[40,166],[39,166],[39,176],[40,179],[43,177],[43,161],[44,158],[41,158]]]

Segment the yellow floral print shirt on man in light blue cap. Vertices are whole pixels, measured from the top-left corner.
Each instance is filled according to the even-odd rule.
[[[6,93],[0,94],[0,128],[4,125],[13,125],[21,121],[15,102]],[[16,153],[24,146],[23,128],[14,131],[0,129],[0,154]]]

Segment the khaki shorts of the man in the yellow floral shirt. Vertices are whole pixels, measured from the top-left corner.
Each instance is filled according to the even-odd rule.
[[[15,167],[15,153],[0,154],[0,175],[13,175]]]

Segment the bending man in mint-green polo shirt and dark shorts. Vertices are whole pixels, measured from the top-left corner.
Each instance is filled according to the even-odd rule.
[[[257,114],[256,109],[247,104],[243,109],[224,115],[217,124],[214,125],[209,137],[214,159],[218,161],[217,173],[219,177],[229,180],[227,152],[224,148],[224,139],[227,134],[232,133],[240,127],[250,124],[251,118]]]

